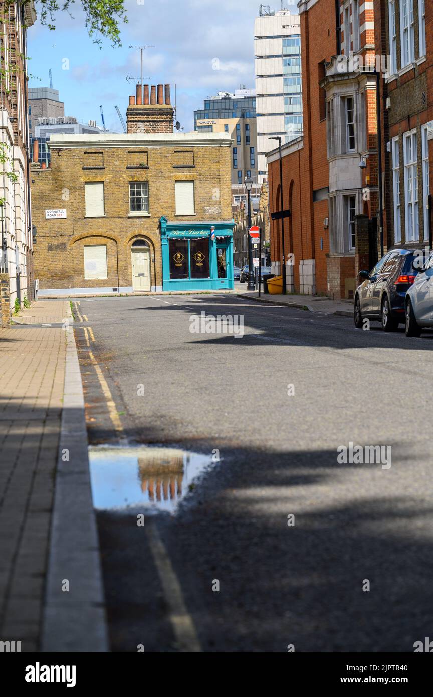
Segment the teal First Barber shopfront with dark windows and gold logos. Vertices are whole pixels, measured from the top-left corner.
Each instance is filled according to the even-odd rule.
[[[233,290],[234,222],[161,218],[164,291]]]

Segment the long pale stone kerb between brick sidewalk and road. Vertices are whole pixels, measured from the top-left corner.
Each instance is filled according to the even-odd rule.
[[[69,307],[68,320],[72,321]],[[84,394],[73,330],[69,328],[65,335],[65,386],[42,618],[42,651],[107,652],[109,641],[90,489]],[[67,586],[69,590],[64,590]]]

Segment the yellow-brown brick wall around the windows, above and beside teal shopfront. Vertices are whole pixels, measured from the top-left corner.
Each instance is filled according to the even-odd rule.
[[[148,242],[155,260],[151,285],[162,286],[162,215],[182,223],[232,220],[229,145],[148,147],[143,141],[141,146],[116,148],[54,148],[52,169],[32,169],[33,222],[38,228],[34,274],[40,289],[132,286],[131,246],[137,238]],[[102,153],[103,164],[83,169],[92,151],[98,158]],[[194,167],[173,164],[183,152],[189,158],[193,153]],[[195,181],[194,217],[176,216],[178,180]],[[85,217],[84,183],[92,181],[104,182],[106,217]],[[149,216],[129,217],[130,181],[148,181]],[[67,217],[45,220],[47,208],[65,208]],[[107,279],[84,279],[84,245],[107,245]]]

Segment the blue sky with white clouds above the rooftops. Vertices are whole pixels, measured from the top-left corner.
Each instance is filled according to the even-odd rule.
[[[127,76],[140,76],[140,51],[129,46],[152,46],[143,52],[143,82],[171,84],[172,102],[176,84],[178,121],[184,132],[194,130],[194,109],[203,109],[205,98],[240,86],[254,89],[259,5],[260,0],[125,0],[129,21],[120,26],[122,46],[113,48],[109,40],[102,40],[102,47],[93,43],[77,0],[72,17],[56,15],[55,31],[38,20],[29,28],[29,86],[49,86],[51,68],[65,116],[101,125],[102,105],[106,128],[123,132],[114,107],[126,118],[136,84]],[[293,0],[285,6],[297,13]],[[281,0],[271,8],[280,9]]]

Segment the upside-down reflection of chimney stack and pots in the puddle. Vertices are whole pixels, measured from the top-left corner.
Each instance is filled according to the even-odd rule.
[[[155,456],[155,450],[148,457],[139,457],[141,491],[149,492],[152,502],[178,500],[182,496],[184,477],[184,453],[181,450],[162,450]]]

